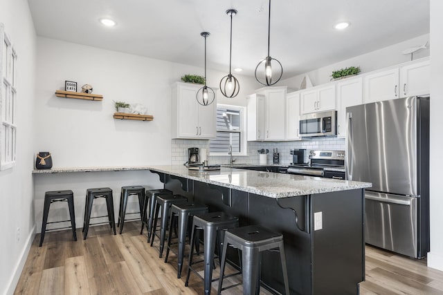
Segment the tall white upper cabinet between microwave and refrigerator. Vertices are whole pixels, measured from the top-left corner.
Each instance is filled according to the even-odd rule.
[[[337,137],[346,137],[346,108],[363,104],[363,78],[347,78],[336,84]]]

